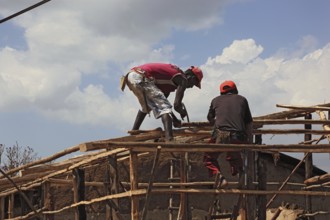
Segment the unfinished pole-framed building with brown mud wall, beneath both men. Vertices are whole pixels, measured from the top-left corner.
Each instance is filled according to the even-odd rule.
[[[161,212],[170,220],[200,219],[192,216],[189,196],[208,197],[212,206],[214,198],[228,194],[236,196],[235,207],[230,212],[208,213],[204,210],[204,219],[236,219],[238,215],[240,219],[267,219],[266,211],[271,207],[278,208],[272,217],[276,219],[282,209],[274,207],[273,202],[283,195],[304,201],[304,212],[300,217],[328,219],[330,206],[326,210],[317,210],[312,198],[330,201],[330,178],[326,173],[315,176],[312,155],[330,153],[330,120],[327,119],[330,103],[278,107],[290,110],[254,118],[254,144],[210,144],[210,125],[190,122],[174,130],[174,143],[162,141],[161,129],[130,131],[125,137],[82,143],[22,167],[2,171],[0,220],[140,220],[155,219],[150,217],[151,213],[160,216]],[[301,125],[302,129],[264,128],[265,125],[294,124]],[[304,140],[297,144],[265,145],[262,144],[262,135],[267,134],[302,134]],[[209,188],[213,182],[207,178],[192,181],[191,155],[228,151],[242,152],[245,161],[243,181],[230,182],[226,189]],[[79,156],[61,160],[78,152]],[[275,160],[282,152],[303,152],[305,156],[284,181],[275,184],[274,189],[269,187],[272,183],[267,179],[267,168],[261,155],[270,154]],[[168,172],[159,170],[162,163],[169,164]],[[302,164],[305,165],[305,182],[290,182]],[[101,170],[101,175],[96,176]],[[164,180],[161,175],[167,176],[167,181],[158,181]],[[290,185],[298,187],[293,189]],[[166,199],[162,199],[164,196]],[[156,203],[156,197],[164,200],[161,203],[168,204],[167,209],[150,208]],[[93,218],[91,213],[94,213]]]

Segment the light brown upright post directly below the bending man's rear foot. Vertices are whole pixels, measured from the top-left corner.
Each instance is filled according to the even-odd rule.
[[[130,151],[130,181],[131,181],[131,191],[138,189],[138,181],[137,181],[137,152]],[[139,197],[132,196],[131,197],[131,219],[138,220],[139,219]]]

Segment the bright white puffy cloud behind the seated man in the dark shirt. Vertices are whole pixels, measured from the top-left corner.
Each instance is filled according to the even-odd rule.
[[[224,80],[236,82],[254,116],[281,111],[276,109],[276,104],[330,102],[326,80],[330,44],[301,58],[276,55],[262,59],[261,52],[261,45],[252,39],[243,39],[233,41],[221,54],[210,57],[201,67],[205,74],[202,90],[195,89],[185,97],[192,115],[198,120],[206,120],[210,101],[219,94],[219,85]]]

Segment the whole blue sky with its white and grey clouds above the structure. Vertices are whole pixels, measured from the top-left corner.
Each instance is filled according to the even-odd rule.
[[[2,0],[0,18],[36,2]],[[0,24],[0,143],[44,157],[127,135],[139,105],[119,78],[145,62],[203,69],[202,89],[184,98],[192,121],[206,120],[227,79],[254,116],[329,103],[329,9],[321,0],[50,1]],[[141,129],[158,126],[151,117]],[[330,172],[329,154],[315,157]]]

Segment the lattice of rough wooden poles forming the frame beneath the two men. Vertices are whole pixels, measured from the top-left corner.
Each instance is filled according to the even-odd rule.
[[[243,195],[245,205],[242,205],[241,219],[254,219],[257,216],[262,219],[265,215],[268,205],[271,201],[261,203],[258,213],[252,211],[255,207],[250,206],[255,203],[255,199],[265,201],[265,196],[273,195],[275,199],[277,195],[293,195],[306,196],[309,198],[306,202],[306,209],[311,205],[310,198],[313,196],[330,196],[327,189],[329,187],[329,174],[320,177],[312,177],[313,164],[309,160],[312,153],[330,153],[330,144],[319,144],[321,140],[330,141],[330,121],[326,119],[324,112],[327,112],[329,118],[330,103],[297,107],[283,106],[278,107],[289,108],[290,110],[259,116],[254,118],[254,144],[244,145],[223,145],[210,144],[208,139],[212,127],[207,122],[190,122],[183,123],[181,128],[174,129],[176,142],[162,142],[164,133],[161,129],[147,131],[129,131],[128,136],[113,138],[108,140],[98,140],[87,143],[82,143],[71,148],[67,148],[62,152],[54,154],[50,157],[34,161],[30,164],[7,171],[6,175],[0,176],[0,219],[30,219],[44,218],[55,219],[56,215],[62,212],[74,213],[75,219],[86,219],[86,207],[92,207],[93,204],[104,203],[107,207],[106,219],[125,219],[121,213],[121,207],[118,200],[126,198],[129,200],[130,213],[129,218],[147,219],[147,211],[149,199],[152,195],[162,194],[177,194],[180,196],[180,207],[178,211],[178,219],[188,219],[189,209],[186,206],[186,195],[188,194],[237,194]],[[318,119],[311,119],[311,115],[316,114]],[[303,119],[299,119],[303,118]],[[264,129],[264,125],[287,125],[301,124],[305,125],[305,129]],[[309,126],[318,126],[321,129],[311,129]],[[264,134],[303,134],[305,139],[298,144],[276,144],[265,145],[258,143]],[[317,136],[317,139],[311,139],[312,135]],[[186,178],[180,182],[154,182],[154,169],[160,162],[160,155],[164,153],[175,153],[182,155],[184,153],[202,153],[202,152],[227,152],[227,151],[244,151],[248,163],[253,163],[253,156],[260,152],[270,152],[271,154],[282,152],[304,152],[306,181],[302,184],[301,190],[290,190],[280,188],[278,190],[265,190],[261,187],[262,184],[270,184],[262,179],[262,176],[257,176],[256,182],[247,181],[247,185],[242,189],[205,189],[201,186],[212,185],[212,182],[190,182]],[[71,153],[80,152],[81,155],[60,161],[64,156]],[[148,182],[139,182],[138,162],[142,156],[153,156],[153,169],[149,174]],[[250,155],[250,156],[248,156]],[[251,157],[252,158],[249,158]],[[60,161],[60,162],[57,162]],[[128,164],[127,181],[120,180],[118,172],[118,163],[126,161]],[[93,181],[85,178],[84,171],[93,169],[100,164],[107,164],[108,181]],[[183,165],[184,166],[184,165]],[[253,166],[251,166],[253,167]],[[184,169],[188,169],[185,167]],[[255,169],[246,169],[255,175]],[[293,170],[292,173],[294,173]],[[258,175],[262,175],[259,172]],[[310,178],[310,179],[309,179]],[[288,178],[289,179],[289,178]],[[322,182],[318,181],[322,180]],[[15,187],[14,184],[17,186]],[[286,181],[283,185],[290,185]],[[237,183],[230,183],[233,187]],[[51,194],[52,187],[69,186],[73,189],[72,200],[69,204],[55,208]],[[86,197],[88,189],[104,189],[106,193],[98,193],[93,198]],[[315,187],[322,187],[320,191],[311,191]],[[120,190],[125,189],[125,190]],[[20,207],[18,213],[15,210],[15,200],[19,199],[16,195],[19,193],[27,193],[38,189],[41,191],[39,203],[34,210],[29,207]],[[95,190],[98,191],[98,190]],[[99,190],[100,191],[100,190]],[[30,198],[31,199],[31,198]],[[140,200],[144,200],[144,206],[141,207]],[[252,202],[251,202],[252,201]],[[24,206],[24,202],[21,202]],[[26,206],[26,205],[25,205]],[[24,208],[24,209],[23,209]],[[326,210],[330,211],[330,210]],[[127,218],[127,217],[126,217]]]

